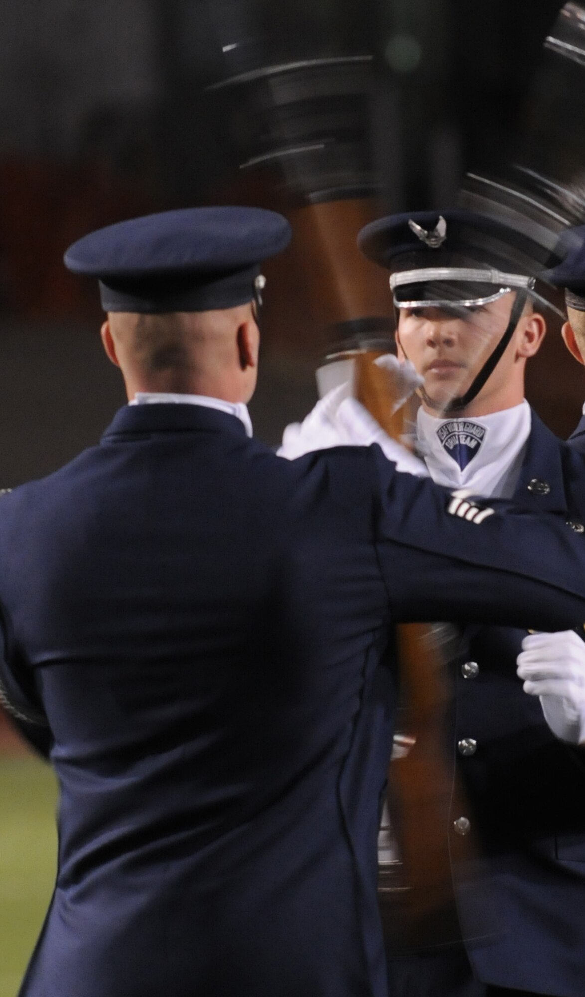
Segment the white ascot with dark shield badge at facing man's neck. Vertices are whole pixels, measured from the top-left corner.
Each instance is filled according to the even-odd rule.
[[[526,401],[470,419],[437,419],[418,410],[420,452],[433,481],[475,495],[511,498],[530,435]]]

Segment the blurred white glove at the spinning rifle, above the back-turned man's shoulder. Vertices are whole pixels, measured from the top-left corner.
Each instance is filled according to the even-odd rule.
[[[409,450],[392,440],[362,405],[348,398],[348,385],[340,385],[317,402],[301,423],[292,423],[283,436],[280,457],[293,460],[302,454],[328,447],[369,447],[377,443],[398,471],[426,476],[426,465]]]

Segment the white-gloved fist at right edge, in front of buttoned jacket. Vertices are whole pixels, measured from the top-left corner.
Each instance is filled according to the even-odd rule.
[[[524,637],[516,659],[524,692],[538,696],[552,733],[585,744],[585,643],[573,630]]]

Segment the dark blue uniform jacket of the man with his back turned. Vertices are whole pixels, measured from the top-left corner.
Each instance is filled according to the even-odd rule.
[[[585,618],[562,517],[450,501],[376,447],[289,462],[187,405],[123,408],[0,500],[3,684],[60,785],[23,995],[383,997],[391,624]]]

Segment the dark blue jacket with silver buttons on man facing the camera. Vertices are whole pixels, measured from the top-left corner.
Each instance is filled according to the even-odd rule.
[[[585,461],[534,413],[513,500],[557,512],[576,529],[585,523]],[[544,629],[537,612],[530,626]],[[452,750],[483,855],[473,865],[457,861],[454,838],[458,909],[482,981],[582,997],[585,752],[558,741],[538,699],[523,692],[516,657],[525,635],[467,626],[454,662]],[[466,677],[476,671],[466,662],[478,666],[476,677]],[[463,756],[458,744],[469,738],[476,751]]]

